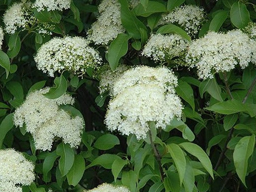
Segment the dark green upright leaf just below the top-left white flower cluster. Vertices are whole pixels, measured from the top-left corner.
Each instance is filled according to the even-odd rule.
[[[18,55],[18,53],[20,52],[20,36],[19,33],[16,32],[15,34],[11,35],[8,41],[8,51],[7,51],[7,55],[9,56],[9,58],[14,58],[15,56]]]

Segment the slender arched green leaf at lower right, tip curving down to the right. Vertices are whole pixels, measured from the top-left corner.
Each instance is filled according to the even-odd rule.
[[[204,168],[209,172],[211,177],[213,178],[213,172],[212,172],[212,163],[209,160],[209,157],[204,152],[204,150],[199,147],[198,145],[194,143],[180,143],[179,144],[182,148],[184,148],[186,151],[188,151],[190,154],[198,158],[198,160],[202,163]]]

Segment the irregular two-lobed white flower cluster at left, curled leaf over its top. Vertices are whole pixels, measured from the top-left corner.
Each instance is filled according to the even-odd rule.
[[[60,105],[73,105],[74,99],[66,93],[58,99],[47,99],[43,94],[48,91],[49,88],[44,88],[29,93],[25,102],[16,109],[14,123],[20,127],[25,123],[37,149],[50,150],[54,137],[61,137],[64,143],[76,147],[81,143],[84,120],[59,108]]]

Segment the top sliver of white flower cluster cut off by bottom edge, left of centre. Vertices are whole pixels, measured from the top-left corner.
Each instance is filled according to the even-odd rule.
[[[91,190],[84,190],[84,192],[130,192],[125,186],[114,186],[108,183],[103,183]]]

